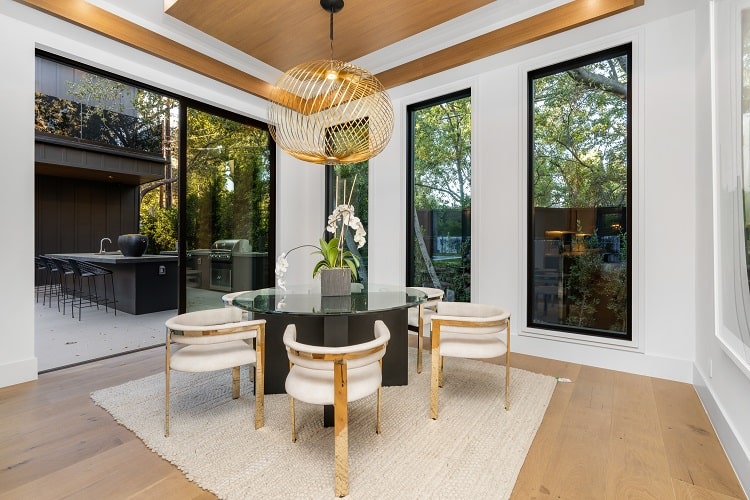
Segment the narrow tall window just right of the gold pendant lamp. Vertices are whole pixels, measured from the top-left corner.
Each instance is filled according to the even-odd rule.
[[[471,300],[471,96],[410,109],[410,285]]]

